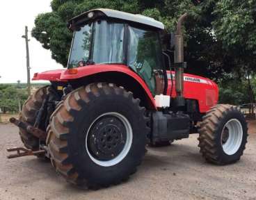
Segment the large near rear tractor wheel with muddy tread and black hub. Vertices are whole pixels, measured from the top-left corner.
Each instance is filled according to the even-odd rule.
[[[136,172],[145,155],[147,117],[131,92],[93,83],[71,92],[51,115],[51,163],[67,181],[97,189]]]

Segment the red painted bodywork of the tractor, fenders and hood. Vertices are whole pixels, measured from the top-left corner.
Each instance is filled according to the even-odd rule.
[[[84,76],[90,76],[93,74],[98,74],[102,72],[122,72],[128,76],[133,77],[141,86],[144,88],[147,98],[150,101],[152,108],[155,108],[154,97],[143,81],[143,79],[134,73],[126,65],[88,65],[86,67],[78,67],[77,74],[70,74],[69,69],[58,69],[42,73],[36,73],[33,80],[47,80],[47,81],[68,81],[77,78],[82,78]],[[168,92],[170,95],[171,81],[170,81],[170,71],[168,73]],[[174,74],[174,72],[172,72]],[[200,113],[206,113],[212,106],[216,105],[218,102],[218,86],[213,81],[208,78],[203,78],[201,76],[195,76],[192,74],[184,74],[189,78],[199,78],[202,83],[195,83],[191,81],[184,81],[184,97],[186,99],[198,100]],[[176,97],[175,92],[175,78],[173,78],[173,92],[171,97]]]

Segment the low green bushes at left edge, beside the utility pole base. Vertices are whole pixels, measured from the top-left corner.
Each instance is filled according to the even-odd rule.
[[[3,112],[17,113],[19,102],[23,105],[28,95],[26,90],[13,85],[0,85],[0,108]]]

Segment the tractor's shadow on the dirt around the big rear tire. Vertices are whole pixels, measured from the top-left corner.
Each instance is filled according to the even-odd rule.
[[[184,162],[186,160],[186,162]],[[147,153],[143,160],[143,163],[138,167],[138,172],[129,178],[127,181],[129,184],[133,184],[133,181],[137,181],[140,177],[147,177],[152,171],[157,173],[159,170],[168,170],[170,173],[173,173],[173,170],[186,169],[188,163],[204,163],[200,153],[198,152],[197,147],[188,146],[186,144],[175,143],[169,147],[159,147],[159,148],[150,148],[147,147]],[[32,180],[31,176],[27,178],[27,181],[31,183],[36,183],[38,179],[47,179],[47,181],[54,183],[54,185],[61,185],[61,195],[65,194],[85,194],[84,192],[93,192],[92,190],[87,190],[85,187],[77,187],[70,183],[66,183],[64,178],[56,174],[51,163],[49,161],[41,160],[38,158],[28,159],[24,162],[24,167],[26,167],[26,173],[33,174]],[[28,176],[28,174],[23,174],[21,176]],[[24,181],[24,178],[23,182]],[[25,179],[26,180],[26,179]],[[123,184],[121,186],[122,187]],[[20,183],[26,184],[26,183]],[[60,186],[58,186],[60,187]],[[103,189],[104,190],[104,189]]]

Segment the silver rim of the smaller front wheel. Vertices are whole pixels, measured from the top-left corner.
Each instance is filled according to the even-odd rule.
[[[221,144],[227,155],[237,153],[243,139],[243,127],[238,119],[230,119],[221,133]]]

